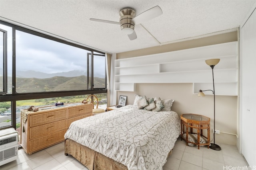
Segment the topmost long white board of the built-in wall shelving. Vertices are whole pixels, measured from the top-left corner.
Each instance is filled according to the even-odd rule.
[[[140,57],[130,57],[126,59],[117,59],[116,67],[140,66],[155,63],[168,63],[175,61],[188,61],[195,59],[211,59],[223,56],[237,55],[238,42],[229,42],[216,45],[209,45],[178,51],[170,51],[153,55],[144,55]]]

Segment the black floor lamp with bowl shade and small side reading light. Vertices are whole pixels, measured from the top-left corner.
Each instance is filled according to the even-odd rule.
[[[213,91],[212,90],[199,90],[198,96],[203,97],[204,96],[204,91],[212,91],[213,96],[214,96],[214,133],[213,133],[213,143],[211,143],[210,149],[213,150],[221,150],[219,145],[215,144],[215,90],[214,90],[214,76],[213,76],[213,68],[216,64],[220,62],[220,59],[209,59],[206,60],[205,63],[208,64],[212,68],[212,82],[213,82]]]

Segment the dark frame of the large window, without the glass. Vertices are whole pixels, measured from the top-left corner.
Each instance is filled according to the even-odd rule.
[[[82,46],[82,45],[78,45],[76,43],[72,43],[70,41],[65,41],[63,39],[59,39],[56,37],[52,37],[50,35],[46,35],[44,33],[40,33],[38,31],[34,31],[31,29],[27,29],[24,27],[21,27],[19,25],[15,25],[12,23],[8,23],[6,21],[2,21],[0,20],[0,23],[2,25],[6,25],[9,27],[12,27],[12,93],[11,94],[7,94],[7,38],[6,38],[6,60],[4,61],[4,63],[6,64],[6,71],[4,72],[6,74],[6,80],[4,80],[4,84],[6,83],[6,94],[2,94],[0,93],[0,102],[11,102],[11,108],[12,108],[12,125],[8,126],[8,127],[0,127],[0,129],[6,129],[6,128],[10,128],[10,127],[14,127],[14,129],[16,129],[16,101],[18,100],[29,100],[29,99],[41,99],[41,98],[54,98],[54,97],[64,97],[64,96],[77,96],[77,95],[87,95],[87,94],[100,94],[100,93],[107,93],[107,88],[106,88],[106,78],[105,78],[105,88],[97,88],[94,89],[93,86],[91,86],[91,88],[88,88],[87,90],[67,90],[67,91],[53,91],[53,92],[31,92],[31,93],[16,93],[16,43],[15,43],[15,39],[16,39],[16,30],[18,31],[23,31],[25,33],[30,33],[32,35],[36,35],[42,38],[46,38],[46,39],[50,39],[52,41],[57,41],[59,43],[64,43],[67,45],[71,45],[73,47],[77,47],[80,49],[84,49],[87,51],[91,51],[91,56],[93,56],[93,53],[100,53],[102,54],[102,56],[105,56],[104,52],[95,50],[95,49],[90,49],[88,47]],[[87,57],[86,55],[84,57]],[[106,57],[106,56],[105,56]],[[93,59],[92,59],[92,63],[93,65]],[[91,84],[93,81],[93,67],[91,67]],[[105,70],[106,73],[106,70]],[[88,82],[89,83],[89,82]]]

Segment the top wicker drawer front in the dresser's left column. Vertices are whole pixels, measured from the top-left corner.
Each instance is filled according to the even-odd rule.
[[[30,115],[30,126],[40,125],[51,121],[65,119],[67,117],[67,109],[51,111],[48,113],[38,113]]]

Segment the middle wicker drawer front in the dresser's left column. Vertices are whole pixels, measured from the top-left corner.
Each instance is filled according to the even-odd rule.
[[[66,125],[67,125],[67,119],[64,119],[64,120],[55,121],[52,123],[47,123],[44,125],[31,127],[29,131],[29,138],[32,139],[35,137],[46,135],[54,131],[66,129]]]

